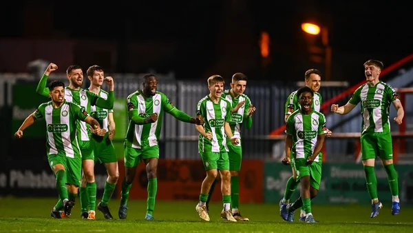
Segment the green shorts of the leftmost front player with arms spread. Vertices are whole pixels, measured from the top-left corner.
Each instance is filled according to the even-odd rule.
[[[50,168],[56,164],[61,164],[66,170],[66,183],[70,185],[81,185],[82,176],[82,159],[81,157],[69,158],[67,156],[62,156],[59,154],[49,154],[47,156],[47,161],[49,162]]]

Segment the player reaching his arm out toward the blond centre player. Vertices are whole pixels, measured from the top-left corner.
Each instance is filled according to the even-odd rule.
[[[136,174],[136,166],[140,161],[145,162],[148,179],[148,199],[145,220],[155,220],[156,191],[158,180],[156,169],[159,159],[159,138],[164,112],[171,114],[179,121],[202,125],[200,117],[193,119],[188,114],[178,110],[162,92],[158,92],[158,80],[153,74],[145,74],[142,90],[129,94],[127,109],[129,110],[129,126],[125,138],[125,179],[119,207],[119,219],[126,219],[129,190]]]

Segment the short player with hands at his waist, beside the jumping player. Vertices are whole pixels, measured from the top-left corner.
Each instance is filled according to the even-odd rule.
[[[301,193],[295,203],[287,205],[288,221],[294,221],[294,213],[302,206],[306,212],[306,223],[317,223],[311,213],[311,199],[319,190],[321,183],[321,166],[312,166],[319,160],[321,148],[327,133],[324,114],[313,110],[314,92],[304,87],[297,90],[301,108],[295,110],[287,119],[286,125],[286,158],[297,181],[301,183]],[[291,161],[290,161],[291,157]]]

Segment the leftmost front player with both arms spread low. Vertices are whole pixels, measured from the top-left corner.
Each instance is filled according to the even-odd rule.
[[[36,119],[45,118],[47,161],[56,177],[56,188],[59,193],[59,201],[53,207],[51,215],[55,219],[61,219],[70,215],[78,186],[81,185],[82,160],[76,140],[77,121],[88,123],[96,132],[100,131],[100,125],[89,116],[85,108],[65,101],[64,83],[52,81],[48,89],[52,100],[39,105],[36,112],[25,119],[14,135],[21,138],[23,131]]]

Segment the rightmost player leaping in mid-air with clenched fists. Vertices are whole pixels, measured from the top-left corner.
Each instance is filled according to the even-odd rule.
[[[393,165],[393,145],[392,134],[390,133],[390,103],[397,111],[394,121],[400,125],[403,121],[404,110],[399,100],[399,94],[387,83],[379,80],[383,70],[383,63],[377,60],[368,60],[364,63],[364,74],[367,83],[361,85],[354,91],[351,99],[339,107],[337,104],[331,105],[331,112],[337,114],[348,114],[358,103],[361,108],[361,160],[366,174],[367,190],[372,199],[371,218],[379,214],[379,209],[383,206],[377,196],[377,179],[374,174],[374,164],[376,156],[379,156],[385,172],[388,174],[390,192],[392,192],[392,214],[400,212],[399,182],[397,172]]]

